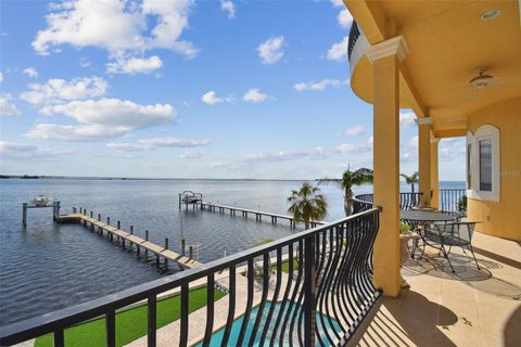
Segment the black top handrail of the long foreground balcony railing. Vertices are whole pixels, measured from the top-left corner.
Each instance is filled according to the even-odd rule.
[[[230,266],[244,262],[249,259],[265,255],[295,241],[304,240],[310,235],[318,234],[325,230],[344,224],[356,218],[378,211],[371,208],[346,218],[339,219],[331,223],[312,228],[295,234],[281,237],[268,244],[255,246],[237,254],[203,264],[201,267],[177,272],[175,274],[139,284],[118,293],[105,295],[82,304],[55,310],[42,316],[29,318],[9,325],[0,326],[0,345],[12,345],[29,338],[45,335],[58,330],[63,330],[86,320],[105,314],[107,311],[115,311],[130,304],[150,298],[182,284],[205,278],[218,271],[226,270]]]

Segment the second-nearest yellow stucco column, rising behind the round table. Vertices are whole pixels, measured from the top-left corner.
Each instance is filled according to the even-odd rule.
[[[431,125],[432,118],[417,118],[420,206],[431,205]]]

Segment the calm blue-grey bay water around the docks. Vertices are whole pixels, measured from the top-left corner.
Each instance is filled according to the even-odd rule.
[[[175,265],[154,264],[123,250],[116,244],[78,224],[58,226],[51,209],[30,209],[22,228],[22,203],[39,194],[62,203],[62,214],[84,207],[111,217],[122,229],[160,245],[169,239],[179,250],[182,234],[200,245],[200,260],[217,259],[256,245],[264,237],[279,239],[295,230],[288,222],[272,226],[239,215],[179,211],[178,193],[192,190],[205,200],[238,207],[287,214],[290,190],[302,181],[249,180],[1,180],[0,181],[0,325],[90,300],[178,271]],[[463,188],[445,182],[443,188]],[[404,191],[407,188],[404,187]],[[330,208],[327,220],[343,216],[342,192],[323,184]],[[371,192],[370,185],[356,193]],[[298,231],[298,229],[296,229]]]

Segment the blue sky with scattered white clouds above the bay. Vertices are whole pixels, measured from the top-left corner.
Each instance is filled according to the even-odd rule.
[[[1,2],[1,172],[339,177],[372,166],[339,1]],[[403,110],[401,170],[417,169]],[[463,180],[461,139],[441,179]]]

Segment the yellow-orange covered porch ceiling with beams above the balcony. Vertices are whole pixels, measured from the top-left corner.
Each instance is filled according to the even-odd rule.
[[[409,48],[401,67],[401,107],[433,117],[435,137],[465,136],[467,117],[521,95],[520,2],[344,0],[369,43],[403,35]],[[500,14],[483,21],[490,10]],[[484,67],[494,80],[469,83]],[[372,66],[363,57],[352,88],[372,103]]]

